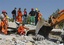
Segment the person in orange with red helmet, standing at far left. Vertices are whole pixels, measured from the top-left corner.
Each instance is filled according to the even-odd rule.
[[[2,29],[1,30],[4,34],[7,34],[8,33],[7,32],[8,21],[7,21],[7,18],[6,18],[6,11],[5,10],[2,11],[1,16],[2,16],[2,20],[1,20]]]

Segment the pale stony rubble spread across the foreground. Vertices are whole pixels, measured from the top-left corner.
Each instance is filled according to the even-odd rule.
[[[33,36],[2,35],[0,34],[0,45],[58,45],[47,39],[41,41],[33,40]]]

